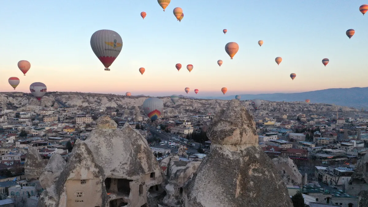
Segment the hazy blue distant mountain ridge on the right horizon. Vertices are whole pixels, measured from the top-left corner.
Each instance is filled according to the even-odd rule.
[[[304,101],[310,99],[311,103],[330,103],[355,108],[368,108],[368,87],[360,88],[329,88],[318,91],[301,93],[275,93],[275,94],[239,94],[241,100],[262,99],[267,101]],[[233,99],[234,96],[202,97],[207,99]]]

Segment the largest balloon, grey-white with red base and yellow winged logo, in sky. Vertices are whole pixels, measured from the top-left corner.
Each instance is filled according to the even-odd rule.
[[[123,40],[117,32],[112,30],[101,29],[91,36],[91,48],[107,71],[110,70],[109,67],[119,55],[122,47]]]

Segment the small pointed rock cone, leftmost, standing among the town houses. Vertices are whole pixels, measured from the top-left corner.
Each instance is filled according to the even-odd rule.
[[[45,168],[45,162],[37,148],[29,147],[26,158],[27,160],[24,164],[24,174],[26,179],[38,179]]]

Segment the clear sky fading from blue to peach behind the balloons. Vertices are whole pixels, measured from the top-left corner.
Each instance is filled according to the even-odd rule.
[[[171,0],[164,12],[156,0],[3,1],[0,91],[14,91],[7,83],[12,76],[21,79],[17,91],[23,92],[33,82],[45,83],[48,91],[132,95],[184,94],[190,87],[191,96],[195,88],[197,96],[206,96],[222,94],[222,87],[226,95],[367,87],[368,15],[359,11],[364,3]],[[183,9],[181,22],[175,7]],[[123,39],[109,72],[89,43],[99,29]],[[351,39],[347,29],[355,29]],[[233,60],[224,51],[227,42],[239,44]],[[323,58],[330,59],[327,67]],[[26,76],[17,67],[23,59],[31,62]],[[183,65],[180,72],[176,63]],[[191,73],[187,64],[194,65]],[[143,76],[139,67],[146,69]],[[290,73],[297,74],[294,81]]]

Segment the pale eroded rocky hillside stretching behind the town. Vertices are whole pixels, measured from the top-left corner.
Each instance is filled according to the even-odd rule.
[[[37,101],[31,94],[21,92],[0,93],[0,107],[3,109],[32,110],[37,107],[44,106],[73,106],[80,108],[94,109],[129,109],[137,110],[141,108],[143,102],[148,97],[113,94],[94,94],[94,93],[78,93],[78,92],[48,92],[41,101]],[[159,97],[164,101],[164,111],[166,116],[183,114],[185,112],[206,112],[214,113],[221,108],[225,108],[229,100],[219,99],[190,99],[180,98],[177,103],[173,103],[170,97]],[[251,101],[241,101],[241,103],[249,110],[254,110],[250,105]],[[355,108],[347,106],[338,106],[326,103],[305,103],[305,102],[276,102],[263,101],[260,110],[266,110],[276,113],[318,113],[318,112],[359,112]]]

